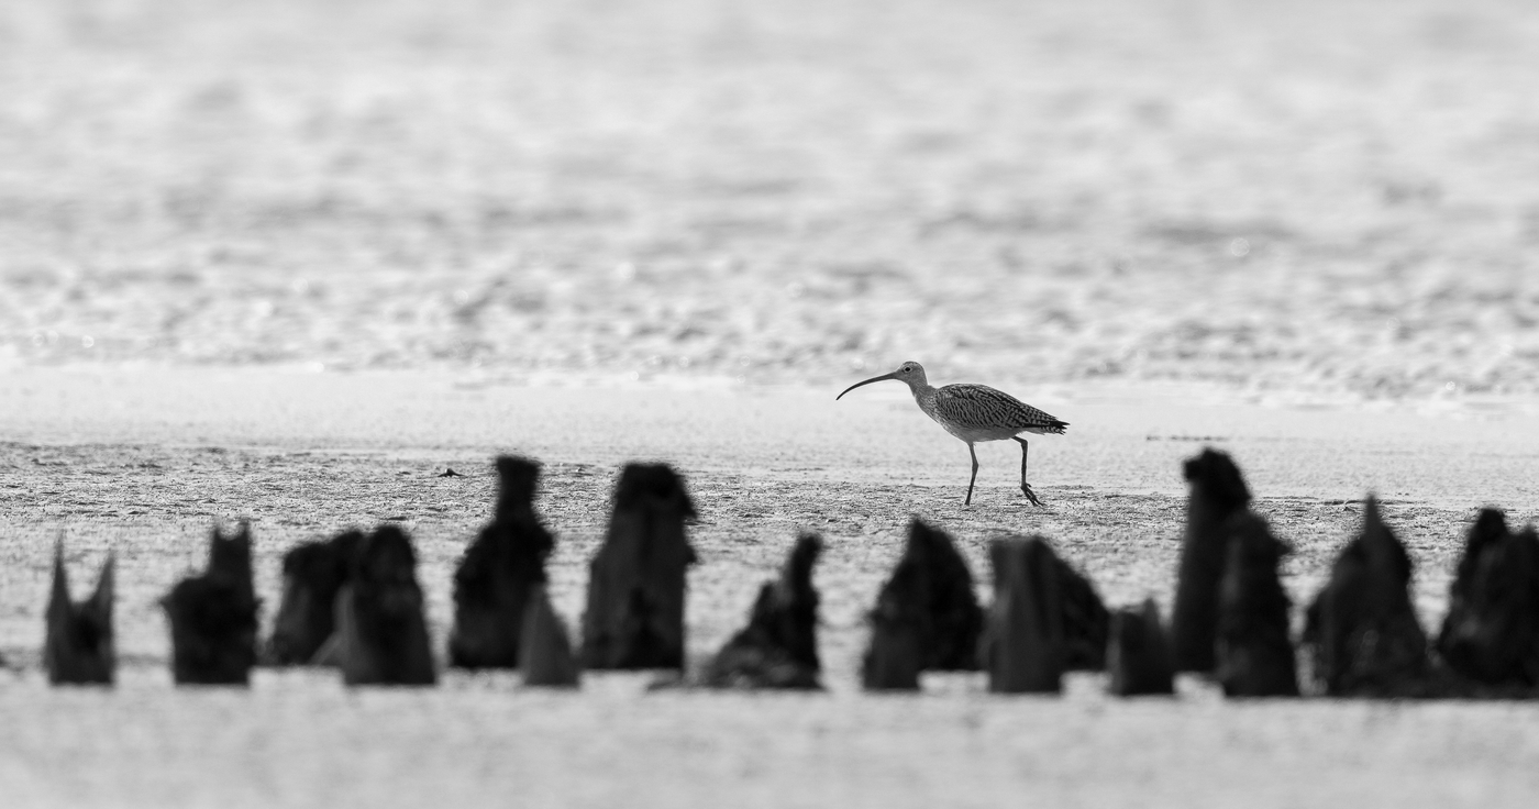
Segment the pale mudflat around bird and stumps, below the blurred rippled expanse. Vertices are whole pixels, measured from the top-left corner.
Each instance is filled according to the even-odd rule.
[[[1233,452],[1257,508],[1296,546],[1296,600],[1319,584],[1373,488],[1417,563],[1424,618],[1442,614],[1465,521],[1491,501],[1536,515],[1531,403],[1288,408],[1208,388],[1043,389],[1067,418],[1019,455],[966,454],[891,389],[511,386],[472,372],[17,369],[0,374],[0,784],[6,806],[268,803],[372,806],[1528,806],[1539,706],[1231,704],[1185,681],[1174,701],[1113,701],[1096,677],[1063,698],[997,698],[973,675],[920,697],[854,681],[862,611],[910,514],[942,523],[983,578],[985,540],[1051,537],[1110,603],[1171,591],[1182,457]],[[486,517],[486,460],[546,463],[559,609],[582,609],[617,463],[659,457],[689,478],[702,564],[691,651],[736,628],[799,528],[830,551],[822,651],[830,692],[645,692],[596,675],[580,694],[449,674],[428,692],[346,692],[323,672],[260,672],[251,692],[174,691],[154,598],[199,563],[206,526],[251,518],[259,588],[295,541],[352,523],[414,532],[442,643],[454,560]],[[437,478],[452,466],[466,478]],[[49,546],[69,538],[77,588],[120,560],[115,692],[51,691],[37,669]],[[269,609],[271,609],[269,601]]]

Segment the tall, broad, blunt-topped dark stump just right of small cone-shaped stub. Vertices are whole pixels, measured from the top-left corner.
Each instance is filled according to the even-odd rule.
[[[685,521],[694,515],[669,466],[620,472],[609,531],[588,568],[585,668],[683,669],[685,572],[696,561]]]

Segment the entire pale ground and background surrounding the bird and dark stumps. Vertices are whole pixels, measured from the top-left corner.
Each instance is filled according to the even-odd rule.
[[[1534,806],[1534,704],[854,671],[913,514],[1168,603],[1210,443],[1296,601],[1377,491],[1431,626],[1474,509],[1539,515],[1536,86],[1524,0],[0,3],[0,806]],[[833,401],[903,358],[1073,423],[1047,509]],[[568,620],[619,464],[686,472],[696,660],[823,532],[830,692],[171,689],[215,520],[269,615],[294,543],[403,521],[442,644],[497,452]],[[119,555],[112,692],[38,671],[60,531],[77,589]]]

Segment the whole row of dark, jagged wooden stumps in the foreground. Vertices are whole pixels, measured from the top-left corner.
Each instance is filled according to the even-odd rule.
[[[497,460],[496,515],[454,574],[451,666],[519,668],[525,683],[574,686],[582,669],[685,669],[685,537],[694,504],[662,464],[620,475],[608,532],[589,566],[580,649],[545,592],[551,534],[534,514],[539,464]],[[1191,486],[1171,628],[1153,600],[1108,612],[1091,583],[1042,537],[994,540],[994,603],[983,609],[951,538],[923,521],[870,612],[868,689],[917,689],[922,671],[988,674],[991,691],[1057,692],[1067,671],[1107,671],[1117,695],[1171,694],[1176,672],[1214,677],[1231,697],[1300,694],[1290,601],[1277,577],[1287,546],[1251,512],[1228,455],[1185,463]],[[817,535],[802,535],[748,626],[694,681],[819,687]],[[55,555],[45,664],[54,683],[111,683],[112,568],[71,603]],[[1299,644],[1311,691],[1359,697],[1539,694],[1539,538],[1499,511],[1470,529],[1448,615],[1428,640],[1410,598],[1411,561],[1370,498],[1362,529],[1307,612]],[[175,584],[177,683],[246,683],[260,663],[328,664],[349,684],[437,680],[411,540],[396,524],[300,544],[283,558],[283,598],[259,649],[251,535],[214,531],[208,571]]]

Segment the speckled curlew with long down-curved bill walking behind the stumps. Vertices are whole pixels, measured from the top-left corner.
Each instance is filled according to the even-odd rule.
[[[973,455],[973,478],[966,483],[966,503],[963,504],[973,504],[973,484],[977,483],[977,451],[973,449],[973,444],[977,441],[1003,441],[1005,438],[1011,438],[1020,444],[1020,491],[1033,506],[1042,504],[1036,492],[1031,491],[1031,484],[1027,483],[1027,452],[1030,448],[1020,434],[1062,435],[1068,428],[1068,421],[1059,421],[1031,404],[986,385],[945,385],[933,388],[925,381],[925,369],[919,363],[903,363],[891,374],[857,381],[845,388],[845,394],[862,385],[883,380],[897,380],[908,385],[908,391],[914,394],[919,409],[925,411],[925,415],[934,418],[946,432],[966,443],[966,451]],[[834,400],[843,398],[845,394],[839,394]]]

